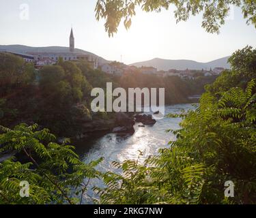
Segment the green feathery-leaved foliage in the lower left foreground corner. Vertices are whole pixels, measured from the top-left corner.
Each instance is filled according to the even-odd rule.
[[[57,144],[57,138],[38,125],[0,128],[0,152],[23,157],[23,163],[14,157],[0,163],[0,204],[82,203],[89,181],[100,176],[94,167],[102,159],[83,163],[69,140]],[[19,194],[22,181],[29,183],[29,198]]]

